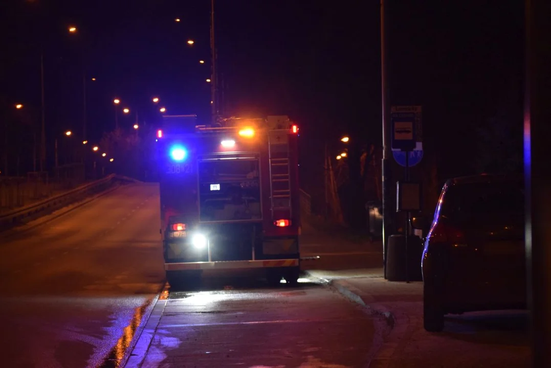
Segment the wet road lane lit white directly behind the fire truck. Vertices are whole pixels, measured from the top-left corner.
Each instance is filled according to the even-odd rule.
[[[127,367],[366,366],[372,318],[331,289],[299,281],[268,288],[260,280],[213,278],[170,292]]]

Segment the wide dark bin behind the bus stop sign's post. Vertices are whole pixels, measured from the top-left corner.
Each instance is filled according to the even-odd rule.
[[[406,235],[391,235],[388,240],[386,260],[386,277],[388,281],[422,281],[422,256],[423,241],[421,238],[415,235],[408,236],[406,258]],[[409,277],[406,277],[406,268]]]

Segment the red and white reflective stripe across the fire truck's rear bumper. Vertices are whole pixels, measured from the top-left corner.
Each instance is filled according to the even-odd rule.
[[[229,268],[296,267],[298,259],[165,263],[165,271],[227,270]]]

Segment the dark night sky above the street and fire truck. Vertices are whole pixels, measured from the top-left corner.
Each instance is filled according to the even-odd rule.
[[[306,159],[321,155],[324,137],[332,144],[342,133],[381,145],[379,1],[215,3],[226,114],[288,114]],[[425,157],[439,157],[442,175],[472,172],[477,127],[496,114],[521,127],[523,2],[387,3],[391,103],[423,105]],[[91,140],[112,129],[114,97],[152,123],[152,96],[170,113],[208,117],[210,1],[0,7],[0,108],[40,108],[42,46],[48,140],[82,131],[83,70]]]

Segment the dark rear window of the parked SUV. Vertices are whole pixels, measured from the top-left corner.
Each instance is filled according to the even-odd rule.
[[[521,183],[468,183],[450,186],[444,194],[441,215],[522,213],[524,190]]]

